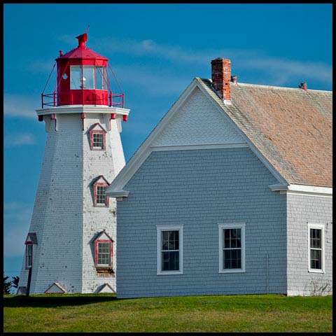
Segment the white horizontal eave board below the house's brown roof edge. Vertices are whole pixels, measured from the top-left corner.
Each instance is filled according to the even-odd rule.
[[[329,187],[304,186],[300,184],[273,184],[269,186],[269,188],[272,191],[280,191],[280,193],[293,195],[332,197],[332,188]]]

